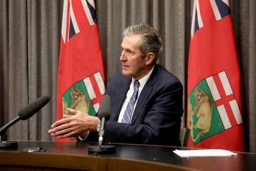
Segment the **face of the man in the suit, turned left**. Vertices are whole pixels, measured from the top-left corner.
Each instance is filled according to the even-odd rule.
[[[131,76],[138,80],[148,72],[146,70],[146,58],[142,58],[142,53],[138,49],[141,40],[140,35],[124,36],[121,49],[120,60],[123,64],[122,74]]]

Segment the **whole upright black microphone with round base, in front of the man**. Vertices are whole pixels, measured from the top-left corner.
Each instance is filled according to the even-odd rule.
[[[104,132],[105,122],[109,120],[111,113],[111,98],[109,95],[105,95],[100,103],[98,117],[100,119],[100,130],[99,130],[99,145],[89,146],[89,153],[98,154],[110,154],[116,153],[116,147],[114,145],[103,145],[104,144]]]

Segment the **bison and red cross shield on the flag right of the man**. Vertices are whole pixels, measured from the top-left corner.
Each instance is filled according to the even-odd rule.
[[[225,71],[200,81],[188,102],[188,127],[194,144],[242,123]]]

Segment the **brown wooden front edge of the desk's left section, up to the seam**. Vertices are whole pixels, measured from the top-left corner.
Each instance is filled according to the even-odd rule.
[[[0,152],[0,165],[48,167],[75,170],[106,170],[104,158],[57,153]]]

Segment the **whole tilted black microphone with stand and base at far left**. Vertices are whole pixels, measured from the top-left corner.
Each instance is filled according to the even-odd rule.
[[[0,135],[2,142],[0,143],[0,149],[1,148],[17,148],[17,143],[7,143],[7,136],[6,131],[14,125],[19,120],[27,120],[31,116],[33,116],[35,113],[37,113],[42,107],[44,107],[49,101],[51,97],[50,96],[42,96],[32,103],[26,105],[22,110],[18,112],[18,116],[15,117],[13,120],[11,120],[9,123],[1,127],[0,129]]]

